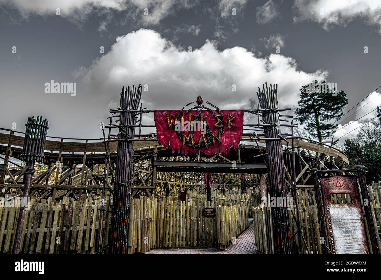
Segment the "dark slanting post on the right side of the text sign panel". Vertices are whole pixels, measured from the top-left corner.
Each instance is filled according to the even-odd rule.
[[[359,159],[358,163],[361,164],[362,159]],[[369,199],[369,193],[367,189],[367,180],[365,178],[365,166],[356,165],[356,169],[357,169],[357,173],[359,174],[359,182],[360,182],[360,190],[361,190],[362,199],[368,202],[368,203],[363,203],[363,206],[365,210],[365,217],[367,218],[367,225],[368,225],[370,243],[372,246],[372,253],[379,254],[375,224],[373,223],[373,216],[372,216],[372,212],[369,205],[370,199]]]

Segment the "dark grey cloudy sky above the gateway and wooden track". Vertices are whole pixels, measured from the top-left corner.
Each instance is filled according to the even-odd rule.
[[[380,0],[0,0],[0,127],[22,131],[43,115],[50,136],[98,138],[122,86],[139,83],[150,109],[181,109],[198,94],[249,108],[266,81],[295,108],[302,85],[325,79],[347,93],[348,110],[381,85],[380,14]],[[76,96],[45,93],[51,80],[76,82]],[[379,93],[359,108],[368,101],[336,137],[374,117],[352,122]]]

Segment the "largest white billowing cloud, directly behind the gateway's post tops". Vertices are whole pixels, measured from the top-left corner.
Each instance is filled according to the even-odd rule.
[[[80,71],[82,72],[82,71]],[[97,96],[118,99],[123,85],[149,86],[143,92],[150,109],[180,109],[200,94],[221,108],[248,108],[258,86],[277,83],[282,107],[295,107],[299,88],[327,72],[306,73],[296,61],[280,54],[256,58],[242,47],[219,51],[207,41],[188,52],[154,30],[140,29],[118,37],[111,50],[93,62],[83,76],[83,86]],[[236,85],[237,91],[232,91]],[[105,96],[104,93],[109,93]]]

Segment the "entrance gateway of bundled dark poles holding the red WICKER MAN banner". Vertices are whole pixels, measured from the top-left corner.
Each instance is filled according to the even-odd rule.
[[[153,163],[156,167],[154,172],[163,170],[205,173],[205,189],[208,205],[212,201],[211,173],[213,172],[234,174],[242,172],[241,176],[244,178],[244,174],[249,172],[251,174],[254,172],[266,173],[264,172],[266,167],[270,195],[274,197],[286,197],[287,189],[283,166],[282,141],[289,142],[288,140],[290,140],[293,143],[294,139],[298,138],[298,136],[290,136],[287,133],[282,133],[280,130],[281,126],[294,128],[296,125],[280,122],[280,112],[290,110],[291,108],[280,109],[278,107],[277,90],[277,85],[267,86],[267,83],[266,87],[263,85],[263,90],[258,88],[257,96],[259,104],[255,109],[220,110],[210,102],[206,102],[208,106],[204,106],[202,97],[199,96],[196,100],[197,105],[188,109],[187,107],[194,104],[194,102],[188,103],[181,110],[151,111],[138,108],[142,93],[141,85],[137,88],[133,86],[132,89],[130,87],[126,89],[123,87],[120,107],[110,111],[113,114],[119,114],[120,122],[118,125],[110,124],[106,126],[119,129],[118,138],[107,140],[107,142],[118,142],[114,206],[110,234],[111,252],[125,253],[126,248],[128,248],[131,181],[135,175],[132,173],[133,168],[131,168],[133,162],[133,143],[135,141],[142,141],[142,139],[135,138],[136,127],[139,127],[138,136],[141,136],[141,128],[156,127],[157,138],[152,137],[151,141],[158,141],[159,144],[162,144],[167,149],[170,147],[172,155],[189,156],[189,161],[187,162],[174,161],[166,163],[163,161],[157,162],[155,154],[153,155]],[[141,115],[152,112],[154,112],[155,125],[143,125],[141,123]],[[244,112],[255,117],[256,122],[243,123]],[[136,125],[138,115],[140,115],[140,120],[139,125]],[[285,118],[292,118],[292,116],[288,115],[283,116]],[[187,123],[184,125],[186,121]],[[201,129],[194,130],[194,123],[196,122],[202,124],[203,131]],[[244,130],[250,132],[245,133]],[[244,138],[245,136],[248,137]],[[148,140],[148,137],[144,140]],[[266,142],[266,156],[262,155],[262,163],[242,163],[240,158],[239,163],[237,163],[225,157],[231,150],[237,149],[242,140]],[[220,163],[210,160],[203,162],[200,161],[200,157],[203,155],[211,158],[220,157],[225,160],[227,159],[228,162]],[[246,190],[244,179],[241,180],[241,184],[241,189],[244,193]],[[278,240],[274,244],[275,252],[291,253],[291,231],[287,210],[283,206],[277,205],[272,209],[272,212],[274,222],[273,234]],[[211,214],[210,211],[203,211],[203,213]]]

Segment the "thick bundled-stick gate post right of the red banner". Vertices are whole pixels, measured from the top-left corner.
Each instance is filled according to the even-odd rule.
[[[285,181],[285,170],[283,161],[282,140],[280,139],[280,122],[277,100],[278,85],[267,87],[263,85],[263,91],[258,88],[258,99],[262,113],[262,121],[268,125],[264,128],[266,138],[277,138],[276,140],[266,140],[267,173],[269,178],[270,197],[287,199],[287,189]],[[259,112],[258,112],[259,114]],[[291,254],[291,231],[288,221],[287,203],[286,205],[276,205],[271,209],[274,221],[274,253]]]

